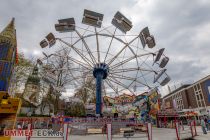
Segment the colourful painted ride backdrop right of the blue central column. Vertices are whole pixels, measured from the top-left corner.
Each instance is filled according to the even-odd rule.
[[[103,112],[119,113],[126,118],[138,117],[145,122],[148,115],[152,119],[156,118],[156,114],[160,109],[159,98],[156,89],[138,96],[128,94],[122,94],[115,98],[105,96]]]

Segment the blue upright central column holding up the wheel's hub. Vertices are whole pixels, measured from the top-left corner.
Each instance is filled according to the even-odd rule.
[[[96,73],[96,114],[102,114],[102,80],[103,80],[104,72],[98,71]]]

